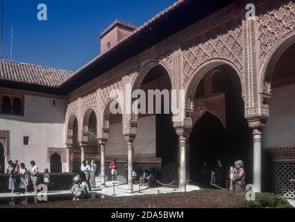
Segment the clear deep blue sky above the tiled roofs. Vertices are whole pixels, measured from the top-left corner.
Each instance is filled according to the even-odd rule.
[[[115,19],[140,26],[176,0],[3,1],[3,59],[10,60],[13,23],[12,60],[76,71],[99,55],[101,31]],[[39,3],[47,21],[37,19]]]

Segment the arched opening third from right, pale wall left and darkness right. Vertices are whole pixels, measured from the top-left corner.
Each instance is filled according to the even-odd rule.
[[[151,67],[142,78],[140,89],[143,89],[146,95],[146,113],[137,116],[135,154],[150,156],[153,161],[149,170],[154,168],[160,173],[162,169],[162,181],[171,182],[178,176],[178,137],[171,121],[171,80],[167,69],[162,65]],[[163,92],[158,96],[159,108],[155,102],[157,96],[153,95],[157,89]],[[153,109],[150,107],[152,103],[148,103],[151,99]],[[153,111],[152,114],[149,109]],[[137,171],[144,171],[139,166],[135,168]],[[169,172],[166,169],[169,169]]]

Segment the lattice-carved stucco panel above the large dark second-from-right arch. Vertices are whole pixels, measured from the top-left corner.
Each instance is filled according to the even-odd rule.
[[[229,60],[242,72],[242,18],[196,36],[184,42],[181,48],[184,87],[189,85],[198,67],[208,60]]]

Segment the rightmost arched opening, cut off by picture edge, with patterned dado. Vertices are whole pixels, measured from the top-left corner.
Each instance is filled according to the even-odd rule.
[[[265,84],[271,84],[271,99],[269,118],[262,132],[262,147],[267,154],[262,159],[262,182],[265,181],[262,185],[264,190],[294,198],[295,185],[289,179],[294,178],[295,160],[284,152],[294,152],[295,146],[295,42],[284,50],[281,54],[274,53],[266,71]],[[271,153],[265,150],[278,152],[273,162]]]

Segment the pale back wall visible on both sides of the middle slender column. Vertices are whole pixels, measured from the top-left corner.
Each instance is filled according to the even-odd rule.
[[[127,156],[127,142],[122,134],[122,123],[110,125],[110,137],[106,144],[106,155]],[[155,116],[138,119],[137,136],[134,140],[134,155],[155,155]]]

